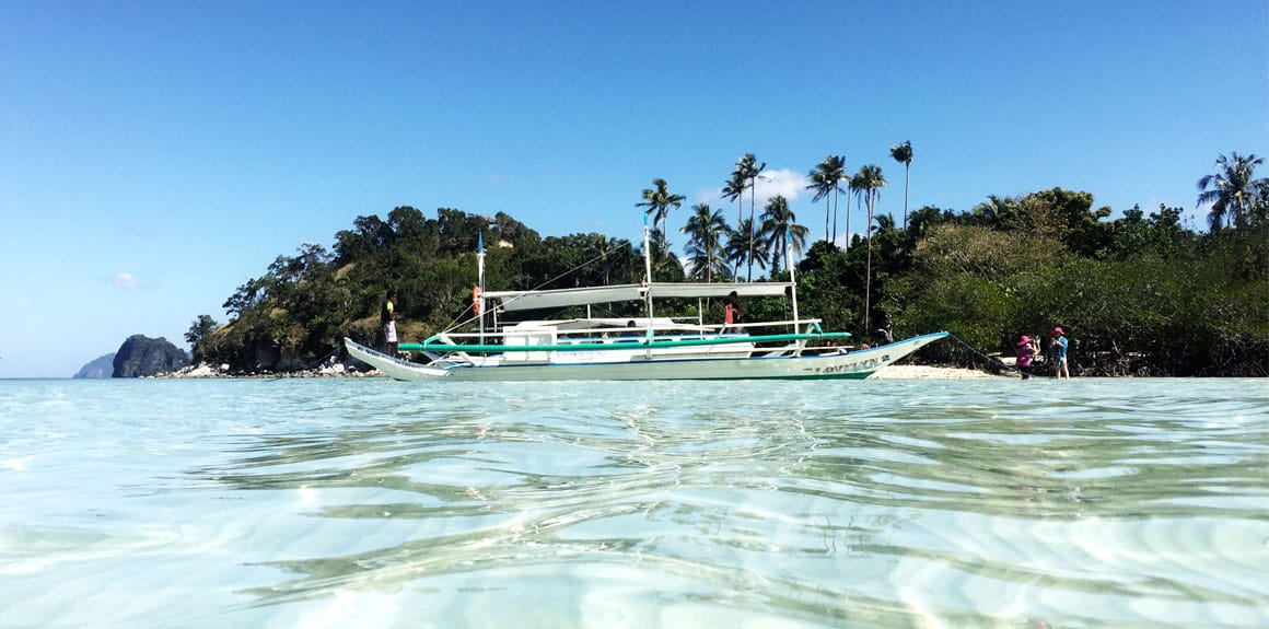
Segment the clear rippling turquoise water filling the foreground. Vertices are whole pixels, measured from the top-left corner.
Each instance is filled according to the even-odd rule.
[[[1265,626],[1269,382],[0,380],[0,626]]]

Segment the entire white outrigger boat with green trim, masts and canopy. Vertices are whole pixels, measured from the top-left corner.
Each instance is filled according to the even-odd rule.
[[[647,228],[643,251],[648,251]],[[645,282],[557,290],[483,292],[483,242],[480,280],[473,290],[476,332],[445,331],[401,351],[421,353],[414,363],[344,339],[348,353],[401,380],[733,380],[867,378],[947,336],[934,332],[876,347],[851,349],[849,332],[825,332],[817,318],[799,318],[796,282],[654,283],[645,255]],[[792,278],[792,269],[791,269]],[[787,297],[793,318],[760,323],[716,325],[654,316],[657,299]],[[593,317],[591,308],[643,302],[642,317]],[[489,306],[494,307],[490,308]],[[501,317],[530,311],[585,307],[586,314],[563,320],[500,323]],[[698,312],[704,308],[698,308]],[[486,317],[492,325],[486,327]]]

